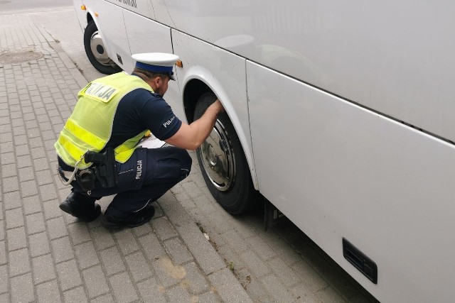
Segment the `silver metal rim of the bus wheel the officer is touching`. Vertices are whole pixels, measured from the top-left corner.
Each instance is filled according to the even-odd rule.
[[[221,192],[230,189],[235,179],[235,160],[223,124],[216,121],[210,136],[200,146],[203,169]]]

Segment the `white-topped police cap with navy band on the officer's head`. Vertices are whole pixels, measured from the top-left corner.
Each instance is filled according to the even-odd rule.
[[[175,80],[172,68],[178,60],[178,55],[168,53],[141,53],[132,55],[132,58],[136,61],[137,68],[158,74],[165,74],[172,80]]]

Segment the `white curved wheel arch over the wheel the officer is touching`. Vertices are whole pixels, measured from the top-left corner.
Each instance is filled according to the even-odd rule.
[[[210,77],[207,77],[210,75]],[[218,80],[211,74],[208,70],[203,69],[202,67],[193,66],[188,69],[185,73],[183,79],[183,108],[185,110],[185,115],[188,123],[194,121],[194,110],[196,109],[196,102],[199,97],[205,94],[206,92],[213,92],[220,101],[222,102],[226,113],[229,116],[232,125],[235,128],[235,132],[240,140],[242,145],[242,151],[247,159],[248,167],[250,168],[250,175],[252,182],[255,186],[255,189],[259,190],[257,184],[257,177],[255,173],[254,158],[252,155],[252,148],[250,148],[251,142],[250,134],[245,133],[245,130],[240,127],[240,119],[235,111],[235,107],[232,105],[232,100],[229,99],[228,94],[225,93],[225,89],[218,82]],[[249,129],[247,130],[250,131]],[[250,143],[250,144],[249,144]]]

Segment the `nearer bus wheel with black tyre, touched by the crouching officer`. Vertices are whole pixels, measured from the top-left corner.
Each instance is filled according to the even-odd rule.
[[[194,119],[199,119],[215,99],[211,92],[203,94],[196,104]],[[218,115],[196,156],[210,193],[228,213],[242,214],[259,204],[260,195],[253,186],[247,159],[228,114]]]

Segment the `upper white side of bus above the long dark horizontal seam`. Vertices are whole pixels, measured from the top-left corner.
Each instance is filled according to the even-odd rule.
[[[455,141],[455,2],[151,0],[160,22]]]

